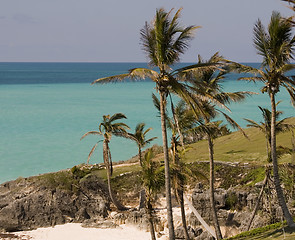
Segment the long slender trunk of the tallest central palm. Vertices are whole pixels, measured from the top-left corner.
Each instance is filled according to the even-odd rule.
[[[163,138],[163,152],[165,163],[165,191],[166,191],[166,204],[167,204],[167,221],[169,230],[169,240],[175,239],[173,215],[172,215],[172,201],[171,201],[171,183],[170,183],[170,167],[169,167],[169,155],[168,155],[168,143],[167,143],[167,129],[165,119],[165,106],[166,100],[165,92],[160,90],[160,112],[161,112],[161,127]]]

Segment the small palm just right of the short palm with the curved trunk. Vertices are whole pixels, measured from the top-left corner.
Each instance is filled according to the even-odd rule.
[[[146,139],[146,134],[150,130],[152,130],[152,128],[148,128],[144,130],[144,127],[145,127],[145,123],[138,123],[135,127],[135,132],[127,134],[127,137],[135,141],[138,146],[138,157],[139,157],[139,163],[141,166],[142,166],[142,148],[150,144],[153,140],[157,139],[157,137]]]

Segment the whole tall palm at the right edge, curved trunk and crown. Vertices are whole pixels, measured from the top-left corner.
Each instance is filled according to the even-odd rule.
[[[254,46],[262,57],[261,69],[233,64],[239,72],[248,72],[254,76],[243,77],[248,81],[259,81],[264,84],[262,93],[267,93],[271,103],[271,159],[273,165],[274,184],[283,215],[289,227],[295,227],[292,216],[286,204],[284,193],[280,183],[278,160],[276,150],[276,96],[281,87],[284,87],[290,95],[291,103],[295,106],[295,80],[294,76],[286,74],[295,68],[290,61],[294,57],[295,38],[292,36],[292,24],[283,19],[278,12],[273,12],[268,28],[258,20],[254,26]]]

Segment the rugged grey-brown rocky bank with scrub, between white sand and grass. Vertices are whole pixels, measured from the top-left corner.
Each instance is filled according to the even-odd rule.
[[[192,165],[206,173],[208,163]],[[294,166],[282,169],[287,173]],[[107,185],[98,176],[101,167],[77,166],[57,173],[19,178],[0,185],[0,229],[14,232],[65,223],[83,223],[84,227],[116,228],[120,224],[132,224],[148,229],[144,209],[138,209],[141,190],[140,172],[134,171],[113,178],[114,192],[129,206],[127,211],[117,211],[109,199]],[[245,231],[264,176],[263,167],[217,163],[216,202],[224,236]],[[223,176],[221,178],[221,176]],[[294,213],[294,200],[288,179],[284,187],[290,210]],[[206,178],[190,182],[187,196],[201,216],[212,224],[208,182]],[[269,181],[261,200],[252,228],[282,220],[272,182]],[[167,226],[165,204],[161,198],[155,205],[156,231],[160,236]],[[176,201],[174,220],[176,235],[183,238],[181,218]],[[186,207],[189,232],[193,239],[209,239],[192,211]]]

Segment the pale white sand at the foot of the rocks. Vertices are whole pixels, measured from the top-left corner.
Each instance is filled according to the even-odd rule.
[[[150,233],[134,226],[120,225],[114,229],[83,228],[79,223],[68,223],[33,231],[14,233],[26,240],[149,240]],[[164,240],[165,237],[161,237]]]

